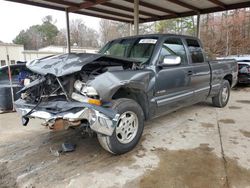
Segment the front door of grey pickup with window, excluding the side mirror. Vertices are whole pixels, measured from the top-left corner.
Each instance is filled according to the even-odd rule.
[[[164,57],[176,55],[181,57],[181,64],[163,66]],[[191,87],[192,66],[188,64],[187,53],[183,41],[179,37],[168,37],[162,44],[156,65],[155,100],[157,115],[174,111],[192,104],[193,89]]]

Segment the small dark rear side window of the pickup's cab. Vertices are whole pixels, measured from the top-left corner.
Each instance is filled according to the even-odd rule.
[[[204,63],[205,58],[203,54],[203,49],[200,46],[198,40],[186,39],[186,43],[192,63]]]

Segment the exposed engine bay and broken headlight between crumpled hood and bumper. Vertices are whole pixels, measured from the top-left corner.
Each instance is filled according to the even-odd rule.
[[[103,65],[101,65],[103,63]],[[53,101],[60,99],[76,100],[86,102],[86,97],[99,99],[97,91],[88,86],[87,83],[94,79],[96,75],[107,71],[124,70],[123,66],[114,64],[110,66],[107,62],[96,62],[89,66],[83,67],[80,72],[56,77],[48,74],[46,76],[37,75],[35,80],[26,80],[27,82],[39,83],[36,87],[27,87],[21,90],[21,98],[29,102]]]

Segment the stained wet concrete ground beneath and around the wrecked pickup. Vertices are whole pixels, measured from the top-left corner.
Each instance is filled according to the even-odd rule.
[[[223,109],[208,101],[147,122],[121,156],[76,130],[0,114],[0,187],[250,187],[249,112],[250,88],[235,89]],[[64,141],[76,150],[56,156]]]

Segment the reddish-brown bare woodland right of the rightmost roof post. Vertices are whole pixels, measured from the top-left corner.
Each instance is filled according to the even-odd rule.
[[[250,9],[202,16],[201,39],[210,56],[250,53]]]

